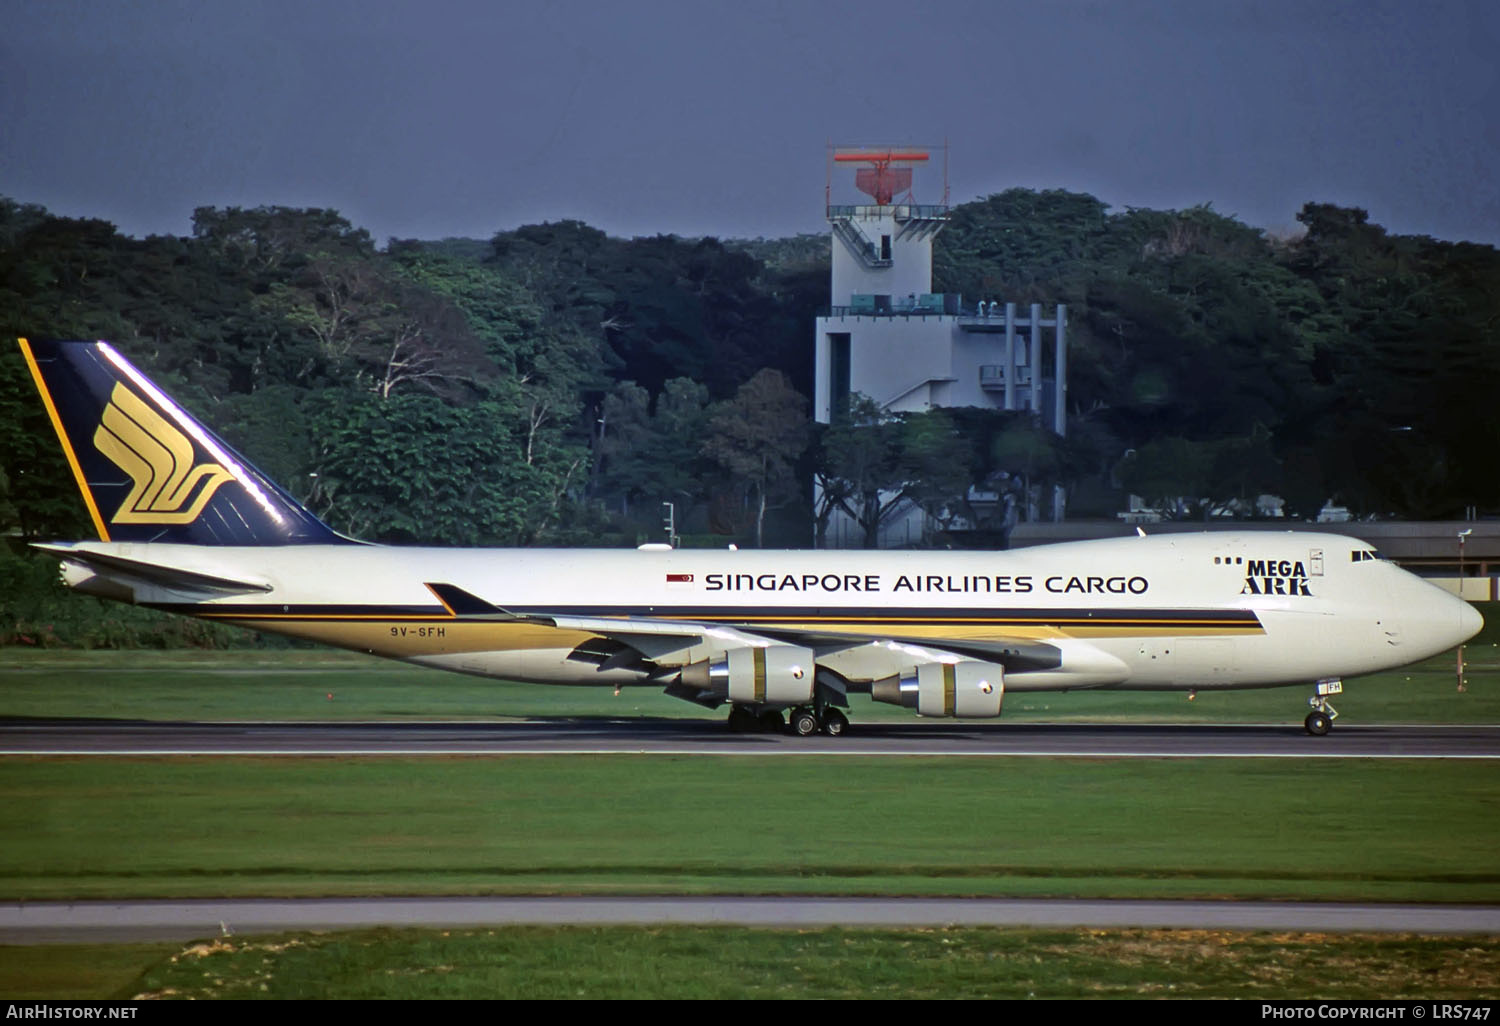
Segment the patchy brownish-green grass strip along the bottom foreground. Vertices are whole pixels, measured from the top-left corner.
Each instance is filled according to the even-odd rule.
[[[1494,999],[1500,939],[1208,930],[369,930],[0,948],[0,996]]]

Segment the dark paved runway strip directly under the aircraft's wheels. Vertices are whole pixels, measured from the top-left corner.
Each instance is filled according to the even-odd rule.
[[[0,720],[0,756],[1074,756],[1500,759],[1500,726],[861,723],[842,738],[732,734],[722,720],[164,723]]]

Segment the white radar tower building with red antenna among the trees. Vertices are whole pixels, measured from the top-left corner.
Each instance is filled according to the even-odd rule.
[[[830,423],[858,393],[891,412],[1024,410],[1064,435],[1066,308],[933,292],[933,240],[950,218],[946,150],[942,162],[942,202],[922,204],[912,182],[916,170],[936,180],[928,150],[830,148],[832,267],[830,306],[816,327],[813,416]],[[861,196],[862,202],[844,202]],[[1048,512],[1060,519],[1060,494],[1052,500]],[[910,506],[885,522],[880,544],[916,544],[928,528],[922,510]],[[836,513],[826,544],[862,543],[862,530]]]

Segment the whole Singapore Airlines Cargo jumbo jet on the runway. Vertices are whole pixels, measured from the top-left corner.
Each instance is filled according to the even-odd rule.
[[[1468,603],[1334,534],[1012,552],[387,548],[346,538],[105,342],[21,340],[98,540],[78,591],[537,684],[654,686],[735,729],[842,734],[848,696],[996,717],[1006,690],[1314,690],[1426,658]]]

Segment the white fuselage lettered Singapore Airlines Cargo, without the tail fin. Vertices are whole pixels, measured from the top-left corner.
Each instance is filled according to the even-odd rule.
[[[652,680],[639,668],[580,663],[573,654],[597,632],[568,618],[699,628],[702,639],[666,656],[666,666],[711,658],[720,640],[818,638],[798,644],[848,681],[900,674],[950,648],[1056,652],[1050,664],[1011,666],[1012,690],[1310,682],[1426,658],[1480,626],[1467,603],[1374,558],[1362,542],[1290,531],[1010,552],[70,548],[258,585],[204,594],[123,574],[138,603],[546,684]],[[68,566],[64,578],[87,590],[94,572]],[[459,588],[495,615],[450,609],[429,584]]]

